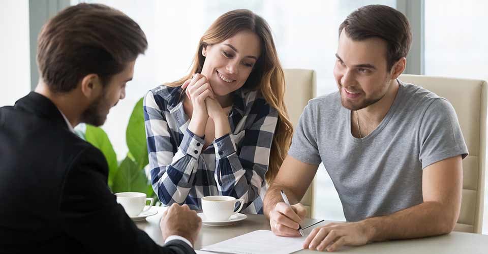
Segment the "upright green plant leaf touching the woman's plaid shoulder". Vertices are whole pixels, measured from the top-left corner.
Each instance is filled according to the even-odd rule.
[[[143,98],[134,107],[126,131],[127,147],[129,148],[129,152],[134,156],[134,160],[139,165],[139,168],[144,168],[149,163],[142,103]]]

